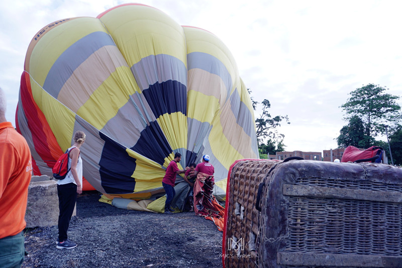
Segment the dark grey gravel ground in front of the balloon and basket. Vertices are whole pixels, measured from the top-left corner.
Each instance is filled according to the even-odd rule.
[[[25,230],[22,267],[222,267],[222,232],[194,212],[162,214],[119,209],[96,191],[77,199],[68,237],[57,249],[57,226]]]

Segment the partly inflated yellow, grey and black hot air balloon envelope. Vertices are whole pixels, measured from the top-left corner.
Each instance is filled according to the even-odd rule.
[[[162,193],[179,152],[180,169],[210,155],[214,195],[224,200],[231,164],[258,158],[250,96],[228,48],[140,4],[40,30],[26,54],[16,124],[35,175],[51,176],[84,131],[83,190],[112,197]]]

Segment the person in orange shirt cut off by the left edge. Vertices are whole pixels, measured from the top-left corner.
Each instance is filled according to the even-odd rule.
[[[28,186],[32,160],[27,141],[6,120],[6,97],[0,88],[0,266],[24,262]]]

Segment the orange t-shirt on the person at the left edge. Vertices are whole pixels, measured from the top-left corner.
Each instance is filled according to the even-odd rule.
[[[11,122],[0,123],[0,238],[16,235],[26,226],[31,171],[27,141]]]

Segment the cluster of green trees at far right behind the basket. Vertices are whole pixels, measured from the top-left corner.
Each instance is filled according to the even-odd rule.
[[[402,111],[396,103],[399,96],[388,94],[386,90],[386,87],[368,84],[349,93],[350,98],[340,106],[348,124],[341,128],[336,141],[338,148],[382,147],[388,163],[402,165]],[[376,140],[380,136],[387,137],[387,142]]]

